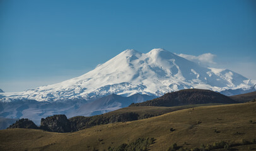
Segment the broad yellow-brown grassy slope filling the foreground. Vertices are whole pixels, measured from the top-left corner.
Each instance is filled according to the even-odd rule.
[[[133,107],[139,109],[141,107]],[[108,150],[138,138],[154,138],[149,150],[194,148],[229,142],[236,150],[256,148],[256,103],[200,106],[144,120],[111,123],[73,133],[0,130],[0,150]],[[248,142],[247,142],[248,141]],[[221,150],[221,149],[219,149]],[[222,149],[223,150],[223,149]]]

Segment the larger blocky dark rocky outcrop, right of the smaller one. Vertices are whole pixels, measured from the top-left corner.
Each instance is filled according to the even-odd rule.
[[[71,125],[66,115],[54,115],[41,119],[40,129],[65,133],[71,131]]]

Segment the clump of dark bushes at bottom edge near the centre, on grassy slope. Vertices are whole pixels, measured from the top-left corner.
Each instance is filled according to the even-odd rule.
[[[153,144],[154,138],[138,138],[132,143],[123,143],[119,147],[108,147],[108,151],[146,151],[149,145]]]

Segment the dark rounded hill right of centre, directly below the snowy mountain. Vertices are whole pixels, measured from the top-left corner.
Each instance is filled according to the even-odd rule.
[[[206,103],[237,103],[228,96],[206,89],[183,89],[175,92],[168,92],[160,98],[135,103],[130,106],[181,106],[187,104]]]

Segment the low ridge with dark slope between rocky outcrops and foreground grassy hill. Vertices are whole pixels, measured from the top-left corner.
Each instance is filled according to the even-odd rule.
[[[172,111],[178,111],[180,109],[194,108],[197,106],[210,106],[218,104],[190,104],[185,106],[173,106],[173,107],[163,107],[163,106],[141,106],[138,108],[127,107],[122,109],[117,109],[105,113],[103,115],[95,116],[75,116],[69,118],[71,121],[72,131],[83,130],[84,128],[89,128],[96,125],[105,125],[108,123],[124,122],[124,121],[135,121],[142,120],[144,118],[151,118],[154,116],[163,115],[170,113]]]

